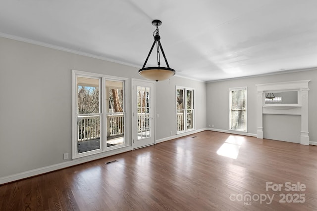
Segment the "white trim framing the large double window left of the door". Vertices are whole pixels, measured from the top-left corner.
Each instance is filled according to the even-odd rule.
[[[100,134],[100,140],[101,140],[101,145],[100,145],[100,149],[96,149],[96,150],[92,150],[92,151],[88,151],[88,152],[83,152],[83,153],[78,153],[78,149],[76,147],[77,145],[77,84],[76,84],[76,77],[87,77],[87,78],[96,78],[96,79],[100,79],[100,100],[99,100],[99,108],[100,108],[100,119],[101,119],[101,134]],[[82,158],[82,157],[86,157],[89,155],[95,155],[95,154],[100,154],[100,153],[104,153],[104,152],[108,152],[108,151],[113,151],[116,150],[118,148],[123,148],[126,146],[131,146],[131,142],[130,137],[129,137],[129,133],[125,133],[124,134],[124,144],[120,144],[117,146],[113,146],[111,147],[111,149],[106,147],[106,138],[104,137],[106,135],[106,115],[108,113],[106,113],[106,103],[104,103],[103,101],[106,99],[106,93],[104,87],[106,87],[106,80],[113,80],[113,81],[120,81],[123,82],[123,89],[124,89],[124,127],[125,130],[124,131],[129,131],[129,120],[127,120],[126,118],[129,117],[129,109],[127,109],[127,105],[126,103],[128,102],[128,87],[129,87],[129,81],[128,78],[123,78],[123,77],[116,77],[116,76],[109,76],[109,75],[104,75],[104,74],[99,74],[99,73],[92,73],[92,72],[85,72],[85,71],[79,71],[79,70],[72,70],[72,76],[71,76],[71,91],[72,91],[72,159],[76,159],[76,158]],[[103,131],[103,132],[102,132]]]

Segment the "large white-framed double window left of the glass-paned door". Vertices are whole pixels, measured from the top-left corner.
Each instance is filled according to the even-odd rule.
[[[73,71],[72,80],[72,157],[126,146],[127,80],[81,71]]]

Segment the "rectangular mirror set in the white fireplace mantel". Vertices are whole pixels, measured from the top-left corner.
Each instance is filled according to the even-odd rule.
[[[265,104],[298,104],[298,91],[265,92]]]

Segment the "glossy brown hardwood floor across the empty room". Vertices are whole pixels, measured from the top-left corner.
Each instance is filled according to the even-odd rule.
[[[30,210],[316,211],[317,146],[204,131],[0,186],[0,211]]]

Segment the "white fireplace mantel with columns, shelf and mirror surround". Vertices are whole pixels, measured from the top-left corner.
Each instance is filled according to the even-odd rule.
[[[281,82],[271,84],[257,84],[257,138],[263,138],[263,114],[301,115],[301,140],[303,145],[309,145],[308,132],[308,83],[311,80]],[[265,104],[266,92],[297,91],[298,102],[296,104]]]

